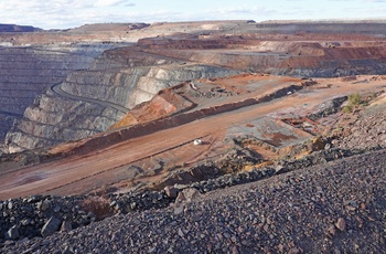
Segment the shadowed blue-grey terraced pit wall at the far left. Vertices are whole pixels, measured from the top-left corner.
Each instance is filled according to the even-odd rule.
[[[34,98],[111,45],[0,46],[0,140]]]

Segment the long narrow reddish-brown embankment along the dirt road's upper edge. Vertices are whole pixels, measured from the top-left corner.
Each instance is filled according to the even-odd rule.
[[[133,125],[107,134],[98,134],[93,138],[85,139],[79,147],[73,149],[71,152],[79,155],[88,152],[89,150],[93,150],[93,148],[103,149],[114,144],[121,142],[122,140],[153,134],[163,129],[173,128],[212,115],[239,109],[242,107],[247,107],[259,103],[270,102],[275,98],[279,98],[287,95],[288,92],[294,92],[301,88],[302,86],[300,85],[290,85],[288,87],[280,88],[269,95],[265,95],[260,98],[248,98],[237,103],[229,103],[219,106],[202,108],[200,110],[187,112],[179,115],[173,115],[167,118],[160,118],[157,120],[148,121],[144,124]]]

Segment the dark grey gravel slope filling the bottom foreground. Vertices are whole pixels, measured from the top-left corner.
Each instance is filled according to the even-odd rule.
[[[116,215],[2,253],[386,253],[386,150]]]

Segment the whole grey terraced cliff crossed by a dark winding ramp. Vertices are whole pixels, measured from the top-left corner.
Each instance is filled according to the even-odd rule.
[[[15,152],[88,137],[105,131],[129,108],[150,100],[160,89],[237,73],[128,49],[110,50],[88,70],[73,72],[39,96],[8,133],[6,146]]]

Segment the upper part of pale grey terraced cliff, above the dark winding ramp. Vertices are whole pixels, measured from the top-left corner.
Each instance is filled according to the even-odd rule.
[[[163,64],[157,64],[161,60]],[[119,67],[111,67],[111,64]],[[178,66],[172,60],[163,60],[162,56],[118,49],[105,52],[89,70],[72,73],[61,88],[76,96],[107,100],[130,109],[150,100],[159,91],[180,82],[216,77],[229,72],[205,65]]]

